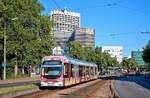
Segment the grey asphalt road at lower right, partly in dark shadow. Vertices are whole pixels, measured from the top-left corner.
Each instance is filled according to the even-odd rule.
[[[114,82],[121,98],[150,98],[150,80],[144,76],[125,76]]]

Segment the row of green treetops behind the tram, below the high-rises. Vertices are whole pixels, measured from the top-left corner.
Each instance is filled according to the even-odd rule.
[[[112,58],[108,53],[102,53],[101,48],[83,46],[80,42],[72,41],[68,44],[70,55],[74,58],[94,62],[101,67],[116,66],[118,64],[115,58]]]

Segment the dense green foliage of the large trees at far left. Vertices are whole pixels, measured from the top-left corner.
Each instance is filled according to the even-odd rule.
[[[43,9],[38,0],[0,0],[0,63],[4,32],[10,66],[14,66],[16,58],[18,65],[37,65],[43,56],[51,54],[52,22],[48,16],[40,15]]]

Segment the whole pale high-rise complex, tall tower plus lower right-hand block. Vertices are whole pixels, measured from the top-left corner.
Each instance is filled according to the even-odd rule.
[[[80,28],[80,13],[56,9],[51,11],[51,20],[54,40],[62,48],[69,41],[79,41],[83,45],[95,46],[95,30]]]

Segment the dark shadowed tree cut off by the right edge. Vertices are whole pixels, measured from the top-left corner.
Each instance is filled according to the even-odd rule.
[[[143,60],[148,64],[147,67],[150,68],[150,41],[143,50]]]

